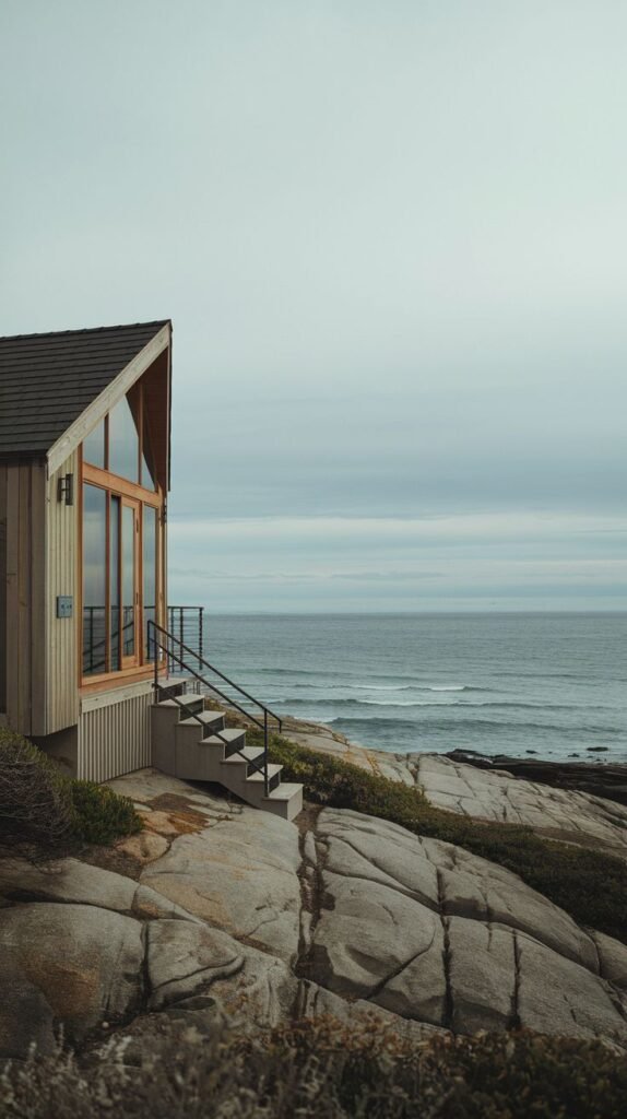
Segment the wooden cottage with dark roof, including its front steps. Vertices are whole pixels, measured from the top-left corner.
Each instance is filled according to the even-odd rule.
[[[0,338],[0,725],[77,777],[154,764],[292,818],[276,716],[168,629],[171,355],[169,320]]]

